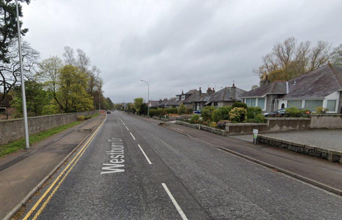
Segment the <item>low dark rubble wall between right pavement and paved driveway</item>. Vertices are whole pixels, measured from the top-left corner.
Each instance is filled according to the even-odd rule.
[[[266,144],[272,147],[281,148],[288,151],[294,151],[301,154],[318,157],[335,163],[342,164],[342,152],[336,150],[327,150],[317,146],[306,145],[302,143],[294,143],[288,140],[271,138],[258,134],[257,143]]]

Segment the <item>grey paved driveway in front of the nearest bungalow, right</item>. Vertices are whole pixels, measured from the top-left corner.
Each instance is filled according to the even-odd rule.
[[[342,151],[342,129],[310,129],[300,131],[282,131],[262,133],[274,138],[296,143],[310,144],[321,148]],[[253,141],[253,134],[234,135],[232,137]]]

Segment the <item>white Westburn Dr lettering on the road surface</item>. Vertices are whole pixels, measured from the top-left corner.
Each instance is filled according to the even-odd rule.
[[[110,151],[106,151],[106,154],[110,155],[109,163],[102,164],[102,170],[108,170],[108,171],[102,171],[101,174],[107,174],[107,173],[118,173],[118,172],[124,172],[124,169],[118,169],[119,167],[124,167],[125,165],[122,164],[125,160],[123,159],[125,156],[124,150],[123,150],[123,143],[122,139],[120,138],[112,138],[108,140],[111,142],[110,145]]]

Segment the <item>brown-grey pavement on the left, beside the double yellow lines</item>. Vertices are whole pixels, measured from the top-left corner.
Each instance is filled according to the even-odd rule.
[[[97,116],[0,158],[0,219],[14,208],[105,117]],[[80,131],[83,129],[83,131]]]

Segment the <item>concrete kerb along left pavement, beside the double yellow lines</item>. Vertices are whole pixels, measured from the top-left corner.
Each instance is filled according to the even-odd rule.
[[[106,116],[107,117],[107,116]],[[106,117],[100,121],[100,123],[98,123],[98,125],[95,127],[95,129],[93,129],[86,138],[84,138],[66,157],[64,157],[64,159],[57,165],[55,166],[55,168],[53,168],[53,170],[48,174],[48,176],[45,176],[19,203],[18,205],[16,205],[9,213],[7,213],[7,215],[2,219],[2,220],[10,220],[12,218],[12,216],[19,211],[19,209],[21,209],[23,206],[25,206],[25,204],[27,203],[27,201],[40,189],[40,187],[42,187],[42,185],[47,182],[50,177],[52,177],[52,175],[57,171],[57,169],[59,169],[64,162],[77,150],[77,148],[79,146],[81,146],[84,141],[86,141],[89,136],[96,130],[96,128],[98,128],[98,126],[100,126],[100,124],[106,119]]]

